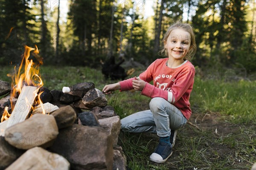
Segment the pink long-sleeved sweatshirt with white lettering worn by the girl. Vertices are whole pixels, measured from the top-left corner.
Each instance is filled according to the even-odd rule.
[[[186,119],[189,119],[191,116],[189,97],[193,88],[195,68],[189,61],[183,62],[177,68],[169,68],[166,66],[167,60],[168,58],[155,60],[140,74],[140,79],[147,82],[141,94],[150,98],[166,99],[180,109]],[[133,89],[134,79],[119,82],[120,91]],[[154,85],[149,84],[152,80]]]

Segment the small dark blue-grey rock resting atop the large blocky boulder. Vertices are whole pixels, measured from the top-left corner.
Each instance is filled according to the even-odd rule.
[[[92,112],[83,112],[79,113],[79,125],[86,125],[86,126],[99,126],[99,121],[95,114]]]

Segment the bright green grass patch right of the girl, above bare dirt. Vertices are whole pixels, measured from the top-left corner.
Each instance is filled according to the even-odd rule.
[[[190,103],[192,111],[219,112],[233,123],[256,124],[256,81],[224,82],[195,77]]]

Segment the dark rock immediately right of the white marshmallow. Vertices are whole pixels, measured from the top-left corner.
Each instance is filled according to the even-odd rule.
[[[93,82],[82,82],[76,85],[72,85],[69,88],[70,88],[69,94],[83,98],[83,96],[87,93],[87,91],[95,88],[95,85]]]

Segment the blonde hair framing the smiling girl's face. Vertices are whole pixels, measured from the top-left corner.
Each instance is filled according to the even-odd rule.
[[[190,24],[181,23],[180,21],[178,21],[177,23],[174,23],[172,26],[170,26],[168,28],[168,30],[164,34],[162,47],[161,47],[161,50],[159,52],[163,56],[168,56],[168,51],[164,47],[164,45],[165,45],[165,42],[167,41],[169,35],[171,34],[171,32],[174,29],[177,29],[177,28],[183,29],[184,31],[186,31],[190,34],[190,47],[189,47],[190,49],[189,49],[188,53],[186,54],[186,56],[184,58],[187,59],[187,60],[191,60],[194,57],[195,52],[196,52],[195,33],[194,33],[193,28]]]

